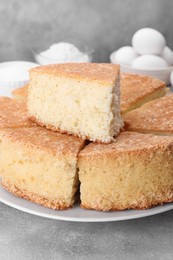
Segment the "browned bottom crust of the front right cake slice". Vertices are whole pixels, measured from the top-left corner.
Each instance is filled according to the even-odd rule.
[[[89,210],[97,210],[97,211],[119,211],[119,210],[128,210],[128,209],[135,209],[135,210],[145,210],[145,209],[150,209],[155,206],[163,205],[168,202],[173,202],[173,192],[168,191],[167,196],[164,194],[163,197],[160,195],[160,198],[153,199],[152,201],[146,201],[146,202],[135,202],[132,204],[127,204],[126,206],[124,205],[112,205],[112,207],[107,207],[106,205],[98,205],[97,203],[95,205],[87,204],[87,203],[81,203],[80,207],[83,209],[89,209]]]

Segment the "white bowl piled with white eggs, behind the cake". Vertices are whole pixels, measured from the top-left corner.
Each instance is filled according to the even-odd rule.
[[[166,38],[153,28],[142,28],[132,35],[132,46],[124,46],[110,54],[112,63],[129,73],[157,77],[170,84],[173,70],[173,52]]]

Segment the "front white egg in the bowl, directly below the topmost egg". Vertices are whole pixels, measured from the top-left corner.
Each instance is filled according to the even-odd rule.
[[[160,69],[168,67],[168,64],[159,56],[142,55],[134,60],[132,67],[135,69]]]

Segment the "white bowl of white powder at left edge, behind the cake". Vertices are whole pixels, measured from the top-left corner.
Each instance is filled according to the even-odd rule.
[[[38,64],[28,61],[0,63],[0,96],[11,97],[14,89],[26,85],[29,82],[28,71],[36,66]],[[21,74],[19,75],[20,70]]]

